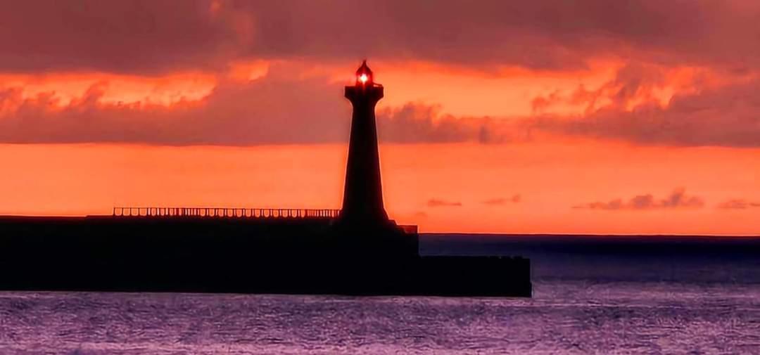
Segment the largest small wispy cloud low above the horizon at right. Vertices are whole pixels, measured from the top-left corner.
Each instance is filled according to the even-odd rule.
[[[628,201],[612,199],[608,202],[584,203],[573,206],[574,209],[650,210],[650,209],[701,209],[705,200],[699,196],[686,195],[686,189],[677,188],[664,199],[655,199],[651,194],[634,196]]]

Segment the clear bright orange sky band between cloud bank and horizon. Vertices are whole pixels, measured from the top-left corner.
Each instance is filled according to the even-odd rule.
[[[340,208],[346,146],[4,145],[0,213],[84,215],[111,206]],[[625,144],[382,146],[386,206],[423,231],[753,234],[760,149]],[[455,167],[455,168],[454,168]],[[678,187],[698,209],[573,209]],[[512,197],[519,195],[519,201]],[[502,203],[499,199],[504,199]],[[452,206],[432,206],[438,200]],[[486,202],[492,201],[492,204]],[[495,202],[496,201],[496,202]],[[461,205],[461,206],[454,206]]]

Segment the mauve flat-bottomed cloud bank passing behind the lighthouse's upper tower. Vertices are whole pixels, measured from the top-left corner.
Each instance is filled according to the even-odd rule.
[[[351,105],[342,84],[280,62],[256,80],[220,78],[202,99],[173,104],[104,99],[107,81],[61,102],[55,93],[0,90],[0,143],[144,143],[230,145],[345,143]],[[378,134],[391,143],[498,143],[499,120],[454,117],[435,105],[408,103],[378,112]]]

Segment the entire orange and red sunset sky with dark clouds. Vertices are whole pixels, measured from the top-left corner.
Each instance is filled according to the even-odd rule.
[[[420,231],[760,234],[760,2],[0,2],[0,214],[340,208],[363,59]]]

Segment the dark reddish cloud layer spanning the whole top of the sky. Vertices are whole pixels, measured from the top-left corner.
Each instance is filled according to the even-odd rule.
[[[388,58],[541,70],[632,58],[760,64],[753,1],[8,2],[0,71],[157,73],[245,58]]]

